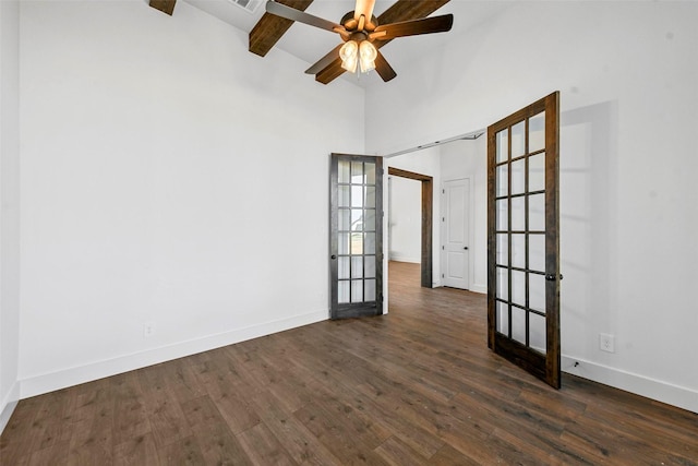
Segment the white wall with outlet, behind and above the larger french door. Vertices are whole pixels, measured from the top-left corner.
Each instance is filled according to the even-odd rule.
[[[514,2],[366,92],[366,147],[393,153],[559,89],[564,370],[694,411],[696,20],[695,2]]]

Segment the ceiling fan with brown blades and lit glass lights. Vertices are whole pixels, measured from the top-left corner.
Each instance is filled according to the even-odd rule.
[[[385,82],[397,76],[397,73],[378,51],[380,47],[397,37],[445,33],[450,31],[454,23],[453,14],[444,14],[378,24],[377,19],[373,15],[374,5],[375,0],[357,0],[354,10],[345,14],[339,23],[314,16],[275,0],[266,2],[266,11],[279,17],[337,33],[341,37],[344,44],[339,44],[330,50],[329,53],[305,70],[305,73],[317,74],[339,58],[344,70],[351,73],[359,71],[366,73],[375,69]]]

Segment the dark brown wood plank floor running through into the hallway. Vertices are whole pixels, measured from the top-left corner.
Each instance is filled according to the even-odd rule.
[[[698,415],[491,354],[485,297],[390,264],[390,313],[24,399],[0,464],[697,465]]]

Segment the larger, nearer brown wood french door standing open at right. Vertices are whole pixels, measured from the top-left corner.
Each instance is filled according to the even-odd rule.
[[[559,93],[488,128],[488,345],[559,389]]]

